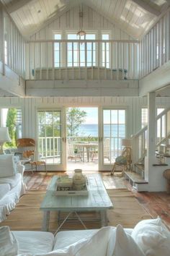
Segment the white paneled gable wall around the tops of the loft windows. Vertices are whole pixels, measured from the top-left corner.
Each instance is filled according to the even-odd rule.
[[[60,31],[66,39],[66,32],[67,30],[72,30],[75,33],[80,29],[79,27],[79,5],[72,7],[67,12],[63,13],[61,17],[56,18],[48,24],[47,26],[43,27],[41,30],[39,30],[34,35],[30,36],[30,40],[53,40],[54,39],[54,32]],[[86,30],[86,32],[90,32],[91,30],[98,31],[110,31],[112,38],[115,40],[133,40],[128,33],[125,33],[120,28],[116,27],[112,22],[109,22],[106,17],[103,17],[102,14],[99,14],[99,12],[96,12],[95,9],[91,9],[88,6],[83,6],[83,29]],[[99,38],[99,35],[97,35],[97,39]]]

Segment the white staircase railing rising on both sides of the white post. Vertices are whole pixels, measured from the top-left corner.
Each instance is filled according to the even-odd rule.
[[[133,135],[133,163],[146,155],[148,125]],[[170,135],[170,108],[166,108],[156,116],[156,148],[166,142]]]

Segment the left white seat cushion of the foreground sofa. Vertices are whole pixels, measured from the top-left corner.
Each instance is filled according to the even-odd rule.
[[[53,250],[54,236],[42,231],[13,231],[19,243],[19,254],[45,254]]]

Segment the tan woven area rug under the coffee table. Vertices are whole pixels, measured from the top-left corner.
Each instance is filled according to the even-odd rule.
[[[109,226],[116,226],[118,223],[125,228],[133,228],[138,221],[151,218],[147,211],[142,208],[133,193],[127,189],[109,189],[107,190],[110,199],[113,202],[114,209],[107,211]],[[45,190],[27,191],[17,204],[17,207],[7,217],[6,221],[0,223],[0,226],[9,226],[11,230],[37,230],[42,226],[42,211],[40,204],[45,196]],[[96,213],[82,213],[89,219],[94,218]],[[57,213],[50,214],[50,231],[55,231],[58,227]],[[99,221],[87,221],[88,229],[97,229],[100,227]],[[63,229],[83,229],[79,222],[69,222]]]

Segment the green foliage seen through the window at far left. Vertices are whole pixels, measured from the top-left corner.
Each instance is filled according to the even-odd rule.
[[[9,136],[11,137],[11,142],[6,142],[6,147],[16,147],[17,131],[17,109],[9,108],[6,116],[6,127],[9,128]]]

